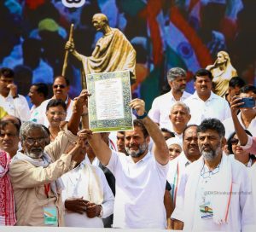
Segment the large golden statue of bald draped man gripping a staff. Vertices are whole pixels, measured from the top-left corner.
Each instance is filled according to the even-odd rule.
[[[91,56],[79,54],[74,49],[73,40],[67,41],[65,46],[65,49],[82,61],[85,75],[130,70],[131,78],[135,79],[136,51],[125,35],[108,25],[105,14],[94,14],[92,24],[103,36],[97,41]]]

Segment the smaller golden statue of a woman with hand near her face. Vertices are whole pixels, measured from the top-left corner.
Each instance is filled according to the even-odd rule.
[[[236,69],[231,65],[230,55],[225,51],[219,51],[214,64],[206,68],[212,73],[214,93],[224,97],[229,89],[230,78],[237,76]]]

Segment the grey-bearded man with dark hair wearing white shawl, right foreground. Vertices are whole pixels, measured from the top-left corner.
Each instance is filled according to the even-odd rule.
[[[197,129],[201,158],[183,173],[172,218],[189,231],[253,228],[251,183],[244,165],[223,153],[224,125],[205,119]]]

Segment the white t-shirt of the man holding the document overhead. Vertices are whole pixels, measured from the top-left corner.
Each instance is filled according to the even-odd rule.
[[[166,228],[168,166],[160,165],[149,152],[134,163],[131,156],[112,151],[107,167],[116,179],[113,227]]]

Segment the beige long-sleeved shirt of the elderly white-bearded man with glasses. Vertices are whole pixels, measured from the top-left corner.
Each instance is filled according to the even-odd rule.
[[[9,166],[9,176],[15,194],[16,225],[44,226],[44,206],[56,206],[59,226],[64,226],[64,206],[61,195],[49,189],[49,198],[44,193],[44,183],[55,181],[73,167],[71,156],[63,154],[76,136],[60,131],[55,142],[44,148],[44,152],[55,161],[48,167],[36,167],[26,160],[15,160]]]

